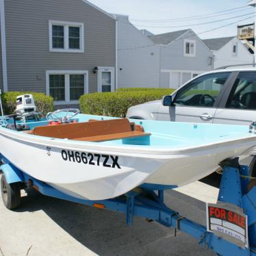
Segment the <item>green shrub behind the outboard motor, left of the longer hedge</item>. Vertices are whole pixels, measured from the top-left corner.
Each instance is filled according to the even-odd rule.
[[[22,94],[33,94],[36,110],[46,115],[54,110],[53,98],[40,92],[3,92],[2,103],[4,114],[12,114],[16,109],[16,97]]]

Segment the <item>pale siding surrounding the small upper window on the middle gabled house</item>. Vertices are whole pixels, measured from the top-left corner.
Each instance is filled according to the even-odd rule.
[[[183,55],[183,38],[196,40],[196,56],[185,57]],[[192,31],[183,34],[182,38],[171,42],[166,47],[161,47],[161,69],[182,70],[182,71],[209,71],[209,57],[212,52],[207,49],[205,44]]]

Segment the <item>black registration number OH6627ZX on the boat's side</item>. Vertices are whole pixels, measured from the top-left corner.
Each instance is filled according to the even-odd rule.
[[[85,153],[79,151],[62,150],[62,159],[69,162],[77,162],[79,164],[90,164],[92,166],[103,166],[107,168],[118,168],[118,156],[101,155],[97,153]]]

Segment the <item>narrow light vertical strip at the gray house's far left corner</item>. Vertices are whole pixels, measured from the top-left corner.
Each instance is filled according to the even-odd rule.
[[[2,53],[3,91],[8,92],[4,0],[0,0],[0,23],[1,23],[1,53]]]

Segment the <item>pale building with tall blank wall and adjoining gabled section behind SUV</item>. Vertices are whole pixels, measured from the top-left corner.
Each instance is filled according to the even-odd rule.
[[[178,88],[212,69],[212,51],[191,29],[153,35],[134,27],[128,16],[114,17],[118,87]]]

